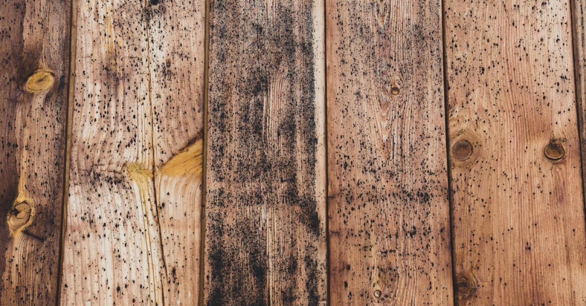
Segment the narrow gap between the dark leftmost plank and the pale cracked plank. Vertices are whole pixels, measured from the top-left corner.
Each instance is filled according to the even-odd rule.
[[[75,59],[76,59],[76,29],[77,29],[77,0],[70,0],[69,5],[69,88],[67,95],[67,112],[65,118],[65,154],[63,166],[63,198],[61,211],[61,239],[59,242],[59,265],[57,266],[57,295],[55,305],[59,306],[61,302],[61,286],[63,281],[63,253],[65,245],[65,233],[67,229],[67,207],[69,202],[69,168],[71,164],[71,125],[73,125],[73,91],[75,90]]]

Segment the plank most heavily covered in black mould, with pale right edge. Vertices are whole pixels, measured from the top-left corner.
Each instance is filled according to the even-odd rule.
[[[206,305],[326,303],[323,2],[210,3]]]

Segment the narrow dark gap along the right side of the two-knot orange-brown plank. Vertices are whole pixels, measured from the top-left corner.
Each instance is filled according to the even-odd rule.
[[[578,149],[580,149],[580,178],[582,179],[582,209],[584,209],[585,219],[584,222],[586,223],[586,194],[584,194],[584,186],[586,181],[584,181],[584,135],[582,135],[582,119],[584,118],[584,110],[582,109],[582,91],[584,88],[580,88],[581,79],[580,79],[580,61],[577,59],[578,56],[578,49],[580,48],[580,44],[577,41],[577,32],[578,32],[578,16],[575,11],[574,1],[578,0],[570,0],[570,38],[572,39],[572,63],[574,67],[574,99],[575,99],[575,106],[576,106],[576,124],[578,128]]]

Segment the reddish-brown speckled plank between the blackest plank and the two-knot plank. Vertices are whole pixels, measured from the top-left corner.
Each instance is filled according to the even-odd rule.
[[[328,2],[332,305],[453,301],[440,7]]]

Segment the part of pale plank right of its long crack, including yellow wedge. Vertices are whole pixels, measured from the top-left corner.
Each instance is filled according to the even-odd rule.
[[[205,5],[205,0],[161,1],[149,18],[165,305],[199,300]]]

